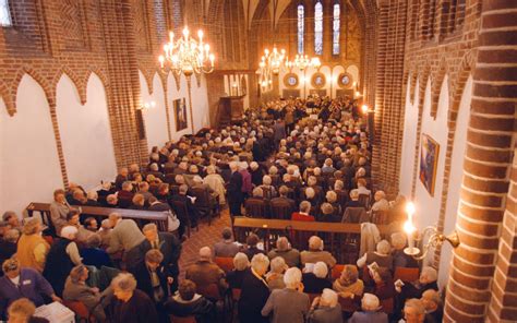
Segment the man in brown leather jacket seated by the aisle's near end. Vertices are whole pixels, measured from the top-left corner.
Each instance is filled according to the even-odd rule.
[[[200,249],[200,259],[187,268],[185,278],[194,282],[197,290],[203,290],[211,284],[216,284],[221,294],[228,288],[225,272],[212,262],[212,250],[208,247]]]

